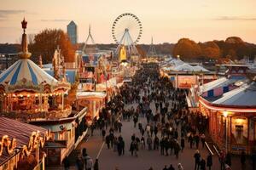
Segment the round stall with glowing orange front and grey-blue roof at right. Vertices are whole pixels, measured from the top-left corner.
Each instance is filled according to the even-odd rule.
[[[252,153],[256,144],[255,96],[254,79],[216,98],[200,97],[200,110],[209,117],[209,133],[221,150]]]

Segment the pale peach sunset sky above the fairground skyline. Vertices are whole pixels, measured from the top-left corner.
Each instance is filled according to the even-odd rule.
[[[0,42],[19,42],[20,21],[26,17],[28,34],[61,28],[74,20],[79,42],[91,25],[97,43],[113,42],[111,27],[119,14],[136,14],[143,24],[139,43],[195,42],[230,36],[256,43],[256,0],[1,0]]]

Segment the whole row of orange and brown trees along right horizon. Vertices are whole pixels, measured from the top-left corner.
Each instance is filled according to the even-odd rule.
[[[203,43],[182,38],[174,46],[172,55],[180,55],[183,59],[242,59],[245,56],[253,59],[256,56],[256,46],[242,41],[240,37]]]

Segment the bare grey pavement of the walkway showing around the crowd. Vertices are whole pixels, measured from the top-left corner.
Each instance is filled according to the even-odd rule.
[[[134,108],[136,108],[136,106],[137,105],[133,105]],[[129,107],[131,107],[131,105],[125,105],[125,108]],[[155,112],[154,102],[151,103],[150,108],[153,110],[153,112]],[[139,122],[142,122],[143,127],[145,127],[146,118],[140,117]],[[112,149],[108,150],[107,145],[104,144],[102,141],[102,135],[100,130],[95,130],[94,136],[90,136],[88,141],[84,141],[79,144],[78,150],[86,148],[87,153],[93,158],[94,161],[96,157],[98,157],[99,167],[101,170],[115,170],[116,167],[118,167],[119,170],[148,170],[149,167],[153,167],[154,170],[162,170],[165,165],[169,167],[170,164],[172,164],[173,167],[177,169],[177,163],[181,163],[185,170],[194,169],[195,160],[193,156],[195,154],[195,149],[189,148],[189,143],[187,140],[185,141],[185,148],[183,150],[183,153],[180,152],[178,159],[175,156],[161,156],[160,150],[149,151],[146,149],[139,150],[137,157],[131,156],[131,153],[129,151],[131,144],[131,135],[135,133],[139,138],[141,138],[141,134],[139,133],[138,128],[133,127],[132,121],[123,121],[122,123],[122,133],[115,132],[114,135],[121,135],[125,140],[125,156],[118,156],[117,152],[113,152]],[[180,131],[178,130],[178,132]],[[158,135],[160,137],[160,133],[158,133]],[[178,141],[180,141],[180,139],[178,139]],[[207,148],[205,147],[204,149],[202,149],[200,144],[199,150],[201,152],[201,158],[207,160]],[[218,162],[218,157],[213,156],[212,161],[212,170],[219,170],[220,166]],[[233,158],[232,165],[233,170],[241,170],[239,158]],[[75,167],[73,166],[71,169],[73,170],[75,169]]]

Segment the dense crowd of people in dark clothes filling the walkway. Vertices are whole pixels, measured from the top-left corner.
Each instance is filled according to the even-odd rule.
[[[117,152],[118,156],[125,155],[126,147],[131,156],[138,157],[139,150],[159,150],[161,156],[175,156],[178,159],[185,144],[189,144],[190,149],[196,150],[195,170],[206,170],[207,167],[211,170],[212,155],[204,158],[200,153],[200,148],[205,147],[207,117],[189,111],[187,93],[187,90],[173,88],[168,78],[160,77],[157,65],[145,65],[132,77],[132,82],[120,87],[102,109],[99,119],[90,127],[91,135],[95,128],[100,129],[108,150]],[[123,121],[132,121],[133,127],[139,132],[137,135],[131,134],[130,144],[122,137]],[[125,142],[128,143],[126,146]],[[220,156],[220,162],[229,164],[229,156],[225,156],[225,161]],[[77,167],[99,169],[98,161],[93,166],[86,151],[80,158]],[[80,165],[82,162],[85,165]],[[175,167],[172,164],[163,165],[163,170],[175,170]],[[153,170],[153,167],[149,169]],[[183,166],[178,164],[177,169],[182,170]]]

